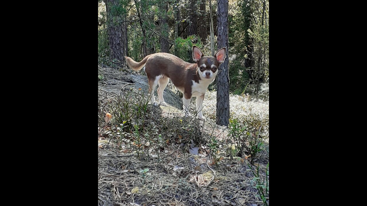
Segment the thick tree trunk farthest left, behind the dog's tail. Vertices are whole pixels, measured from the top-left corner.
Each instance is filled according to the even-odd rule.
[[[127,56],[126,14],[116,14],[111,10],[111,7],[123,7],[123,5],[120,5],[118,0],[106,0],[110,57],[119,60],[123,65],[125,63],[124,56]],[[113,19],[117,20],[113,21]]]

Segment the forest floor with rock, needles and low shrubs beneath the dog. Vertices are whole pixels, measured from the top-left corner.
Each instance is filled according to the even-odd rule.
[[[163,95],[171,106],[145,104],[146,77],[135,72],[100,67],[99,80],[98,205],[264,205],[255,185],[269,183],[268,102],[231,96],[231,116],[265,125],[265,149],[250,164],[248,155],[230,155],[230,130],[211,119],[214,94],[208,101],[206,95],[207,118],[200,121],[184,117],[182,100],[168,87]]]

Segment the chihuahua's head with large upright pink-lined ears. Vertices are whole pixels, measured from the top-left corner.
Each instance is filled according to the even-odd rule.
[[[204,56],[196,46],[192,47],[192,58],[197,63],[198,72],[201,78],[214,78],[218,73],[218,68],[226,58],[226,48],[223,47],[214,56]]]

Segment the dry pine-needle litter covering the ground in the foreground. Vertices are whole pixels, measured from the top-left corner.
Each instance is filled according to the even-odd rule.
[[[262,203],[255,196],[253,176],[241,161],[224,159],[215,168],[209,166],[207,155],[187,154],[183,147],[172,150],[168,148],[166,155],[142,160],[134,153],[124,153],[113,146],[99,149],[98,205]],[[149,169],[150,176],[143,177],[139,173],[145,168]]]

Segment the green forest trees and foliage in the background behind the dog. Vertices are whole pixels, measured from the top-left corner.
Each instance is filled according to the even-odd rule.
[[[110,1],[107,1],[109,3]],[[124,22],[127,54],[136,61],[156,52],[169,52],[192,62],[191,48],[197,45],[211,55],[210,6],[206,0],[114,0],[98,3],[98,61],[124,67],[111,58],[108,29]],[[214,52],[217,51],[216,1],[212,4]],[[269,98],[269,0],[229,0],[230,91],[238,95]],[[167,44],[168,46],[164,45]],[[209,89],[214,90],[216,84]]]

